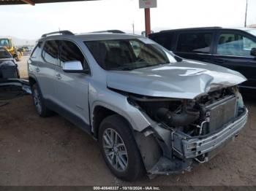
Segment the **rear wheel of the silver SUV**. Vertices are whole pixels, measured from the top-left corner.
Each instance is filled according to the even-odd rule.
[[[50,116],[52,112],[50,111],[50,109],[47,108],[47,106],[45,106],[44,100],[42,98],[42,93],[39,90],[38,85],[37,84],[32,85],[31,90],[32,90],[34,106],[39,116],[41,117]]]

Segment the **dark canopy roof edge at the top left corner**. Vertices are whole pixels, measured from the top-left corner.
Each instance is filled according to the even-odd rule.
[[[0,0],[0,5],[10,4],[43,4],[43,3],[58,3],[68,1],[95,1],[95,0]]]

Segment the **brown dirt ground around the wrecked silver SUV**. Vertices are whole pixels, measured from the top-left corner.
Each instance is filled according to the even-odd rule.
[[[26,59],[26,58],[25,58]],[[26,62],[18,63],[26,77]],[[192,172],[122,182],[106,167],[97,142],[59,115],[39,117],[31,96],[0,107],[0,185],[256,185],[256,101],[236,141]]]

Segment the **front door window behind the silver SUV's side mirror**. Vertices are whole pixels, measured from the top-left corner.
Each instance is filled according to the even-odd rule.
[[[84,69],[89,68],[79,47],[70,41],[62,41],[60,60],[61,66],[67,61],[80,61],[83,64]]]

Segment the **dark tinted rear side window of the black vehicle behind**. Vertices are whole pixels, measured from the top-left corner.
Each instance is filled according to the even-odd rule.
[[[180,34],[177,52],[209,53],[212,38],[212,33]]]

